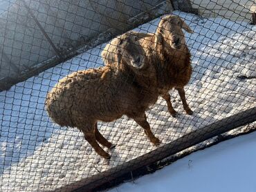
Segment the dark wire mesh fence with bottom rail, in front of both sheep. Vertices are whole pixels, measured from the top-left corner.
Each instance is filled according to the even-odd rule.
[[[93,189],[256,120],[253,1],[0,5],[1,191]]]

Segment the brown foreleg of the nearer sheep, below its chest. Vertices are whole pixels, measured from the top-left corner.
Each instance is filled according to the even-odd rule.
[[[145,113],[142,116],[137,116],[133,119],[137,124],[142,126],[150,142],[152,142],[155,146],[161,144],[161,141],[152,133],[149,122],[147,122],[147,117]]]

